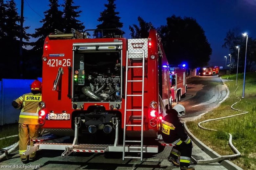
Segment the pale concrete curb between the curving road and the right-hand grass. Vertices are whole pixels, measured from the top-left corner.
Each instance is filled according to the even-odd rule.
[[[221,79],[221,81],[223,82],[224,84],[224,81]],[[226,84],[224,84],[224,86],[226,87],[226,90],[227,90],[227,95],[216,105],[216,107],[218,107],[223,101],[225,101],[228,96],[229,96],[229,89],[227,87]],[[213,109],[215,109],[216,107],[214,107]],[[212,109],[212,110],[213,110]],[[209,110],[210,111],[210,110]],[[205,112],[205,113],[202,113],[201,116],[203,116],[204,114],[208,113],[209,111]],[[196,116],[197,119],[200,119],[201,116]],[[196,120],[196,119],[194,119]],[[212,158],[217,158],[217,157],[221,157],[221,155],[219,155],[217,152],[213,151],[211,148],[209,148],[208,146],[206,146],[203,142],[201,142],[199,139],[197,139],[196,136],[194,136],[190,131],[189,129],[187,128],[187,125],[186,125],[186,122],[184,122],[184,127],[185,127],[185,130],[187,131],[187,134],[188,136],[192,139],[192,141],[199,147],[201,148],[206,154],[208,154],[210,157]],[[230,169],[230,170],[243,170],[242,168],[240,168],[239,166],[235,165],[234,163],[230,162],[229,160],[223,160],[220,162],[220,164],[222,166],[224,166],[225,168],[227,169]]]

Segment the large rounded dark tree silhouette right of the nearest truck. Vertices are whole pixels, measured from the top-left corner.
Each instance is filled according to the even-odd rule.
[[[167,25],[158,28],[170,64],[188,63],[192,68],[208,65],[212,48],[203,28],[190,17],[166,19]]]

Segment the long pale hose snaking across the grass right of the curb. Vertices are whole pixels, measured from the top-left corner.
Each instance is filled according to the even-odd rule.
[[[236,87],[236,90],[238,89],[238,86]],[[234,96],[235,95],[235,92],[236,90],[234,91]],[[234,117],[234,116],[239,116],[239,115],[243,115],[243,114],[246,114],[246,113],[249,113],[248,111],[243,111],[243,110],[239,110],[239,109],[235,109],[233,106],[236,105],[237,103],[239,103],[241,101],[241,99],[239,97],[236,96],[236,98],[239,99],[239,101],[237,101],[236,103],[232,104],[231,105],[231,108],[233,110],[237,110],[239,112],[243,112],[243,113],[238,113],[238,114],[235,114],[235,115],[231,115],[231,116],[224,116],[224,117],[220,117],[220,118],[216,118],[216,119],[208,119],[208,120],[205,120],[203,122],[199,122],[198,123],[198,127],[199,128],[202,128],[202,129],[205,129],[205,130],[213,130],[213,131],[218,131],[218,130],[215,130],[215,129],[209,129],[209,128],[204,128],[201,126],[201,123],[205,123],[205,122],[209,122],[209,121],[213,121],[213,120],[220,120],[220,119],[225,119],[225,118],[230,118],[230,117]],[[226,132],[227,133],[227,132]],[[228,140],[228,144],[230,146],[230,148],[233,150],[233,152],[235,154],[233,155],[225,155],[225,156],[220,156],[218,158],[214,158],[214,159],[209,159],[209,160],[198,160],[197,161],[197,164],[207,164],[207,163],[215,163],[215,162],[219,162],[219,161],[222,161],[222,160],[227,160],[227,159],[233,159],[233,158],[236,158],[236,157],[239,157],[241,156],[241,153],[234,147],[234,145],[232,144],[232,135],[230,133],[229,134],[229,140]]]

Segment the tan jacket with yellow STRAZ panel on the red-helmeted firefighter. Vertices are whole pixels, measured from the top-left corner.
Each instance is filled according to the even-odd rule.
[[[18,108],[22,107],[20,112],[19,123],[20,124],[38,124],[38,103],[42,100],[41,93],[33,94],[27,93],[15,101],[18,103]]]

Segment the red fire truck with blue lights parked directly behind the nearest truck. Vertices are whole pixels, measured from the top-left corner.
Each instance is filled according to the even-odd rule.
[[[187,93],[187,76],[185,66],[170,67],[170,79],[171,79],[171,98],[170,101],[174,101],[178,104],[181,98],[186,97]]]

